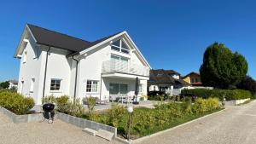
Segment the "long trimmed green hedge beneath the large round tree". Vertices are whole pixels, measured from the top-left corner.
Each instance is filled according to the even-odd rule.
[[[217,97],[219,100],[225,98],[226,101],[252,98],[252,94],[249,91],[242,89],[183,89],[181,95],[194,95],[202,98]]]

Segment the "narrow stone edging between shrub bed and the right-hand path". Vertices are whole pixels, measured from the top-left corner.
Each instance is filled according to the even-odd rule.
[[[211,114],[207,114],[207,115],[205,115],[205,116],[203,116],[203,117],[201,117],[201,118],[196,118],[196,119],[191,120],[191,121],[189,121],[189,122],[187,122],[187,123],[177,125],[177,126],[175,126],[175,127],[172,127],[172,128],[170,128],[170,129],[167,129],[167,130],[159,131],[159,132],[154,133],[154,134],[152,134],[152,135],[143,136],[143,137],[138,138],[138,139],[136,139],[136,140],[127,141],[127,140],[125,140],[125,139],[116,137],[116,138],[115,138],[115,141],[119,141],[119,142],[122,142],[122,143],[124,143],[124,144],[139,143],[139,142],[141,142],[141,141],[147,140],[148,138],[151,138],[151,137],[154,137],[154,136],[157,136],[157,135],[161,135],[161,134],[163,134],[163,133],[166,133],[166,132],[175,130],[175,129],[179,128],[179,127],[182,127],[183,125],[193,123],[193,122],[195,122],[195,121],[197,121],[197,120],[200,120],[200,119],[202,119],[202,118],[207,118],[207,117],[212,116],[212,115],[214,115],[214,114],[217,114],[217,113],[219,113],[219,112],[223,112],[224,110],[225,110],[225,109],[220,110],[220,111],[218,111],[218,112],[213,112],[213,113],[211,113]]]

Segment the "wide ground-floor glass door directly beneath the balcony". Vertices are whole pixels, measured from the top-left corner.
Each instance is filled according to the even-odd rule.
[[[126,95],[128,93],[128,84],[109,84],[110,95]]]

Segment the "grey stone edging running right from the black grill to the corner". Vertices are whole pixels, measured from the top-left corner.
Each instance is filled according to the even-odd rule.
[[[96,123],[84,118],[78,118],[78,117],[74,117],[65,113],[61,113],[58,112],[56,114],[57,118],[60,119],[61,121],[64,121],[68,124],[73,124],[75,126],[78,126],[80,128],[89,128],[91,130],[107,130],[111,133],[113,133],[113,136],[116,137],[117,136],[117,128],[109,126],[109,125],[105,125],[105,124],[100,124],[100,123]]]

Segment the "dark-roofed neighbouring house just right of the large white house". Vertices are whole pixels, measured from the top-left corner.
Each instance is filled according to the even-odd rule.
[[[148,91],[163,91],[172,93],[173,89],[189,88],[190,84],[180,78],[180,74],[173,70],[150,70]]]

